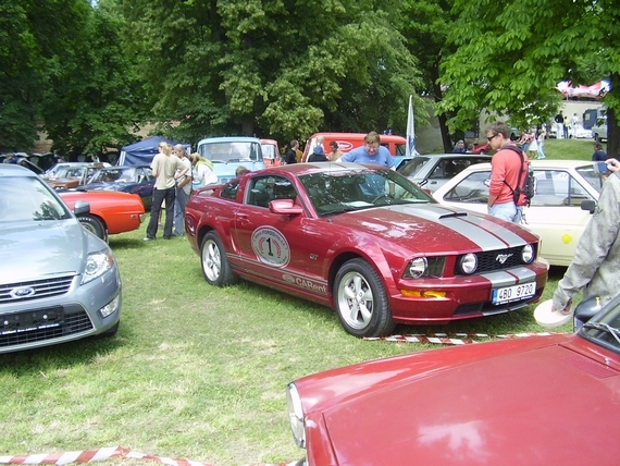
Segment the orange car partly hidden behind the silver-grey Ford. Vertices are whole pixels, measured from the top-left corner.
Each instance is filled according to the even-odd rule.
[[[90,205],[90,212],[77,216],[87,230],[103,241],[108,235],[137,230],[145,220],[145,206],[137,194],[116,191],[62,191],[62,200],[70,209],[84,200]]]

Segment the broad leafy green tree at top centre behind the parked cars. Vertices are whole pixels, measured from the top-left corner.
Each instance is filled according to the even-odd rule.
[[[400,2],[119,2],[171,137],[405,128],[418,71],[392,26]]]

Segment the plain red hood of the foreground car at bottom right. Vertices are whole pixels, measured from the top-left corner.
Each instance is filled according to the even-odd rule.
[[[620,373],[568,336],[532,340],[500,342],[495,357],[459,347],[355,366],[348,385],[363,378],[363,390],[343,392],[333,373],[321,380],[332,400],[308,410],[323,419],[338,465],[616,464]]]

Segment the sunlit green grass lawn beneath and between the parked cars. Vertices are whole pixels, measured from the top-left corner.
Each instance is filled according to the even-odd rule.
[[[592,142],[549,139],[546,152],[590,160]],[[121,445],[215,466],[294,461],[289,381],[431,347],[355,339],[330,309],[248,282],[211,287],[185,238],[145,243],[145,229],[110,238],[124,286],[115,338],[0,355],[0,454]],[[543,331],[532,312],[395,333]]]

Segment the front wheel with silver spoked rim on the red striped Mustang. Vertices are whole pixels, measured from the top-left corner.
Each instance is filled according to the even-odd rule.
[[[385,286],[364,259],[351,259],[336,273],[334,309],[345,330],[355,336],[383,336],[396,327]]]

